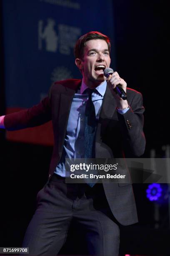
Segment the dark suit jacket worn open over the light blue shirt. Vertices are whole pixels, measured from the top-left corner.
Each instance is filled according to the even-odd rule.
[[[5,116],[4,125],[8,131],[42,125],[52,120],[54,148],[50,163],[49,179],[62,155],[67,121],[72,99],[81,80],[67,79],[55,82],[49,96],[39,104]],[[96,158],[138,157],[145,150],[143,133],[142,95],[127,88],[130,110],[121,115],[116,110],[115,99],[107,86],[102,102],[95,139]],[[110,209],[119,223],[130,225],[138,222],[132,184],[103,183]]]

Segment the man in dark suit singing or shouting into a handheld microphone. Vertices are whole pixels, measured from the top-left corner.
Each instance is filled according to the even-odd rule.
[[[1,117],[1,128],[8,131],[49,120],[53,125],[49,179],[38,192],[37,210],[23,246],[29,247],[32,255],[56,255],[70,224],[75,223],[88,255],[116,256],[119,223],[138,221],[131,183],[67,183],[65,159],[141,156],[145,150],[142,95],[127,88],[117,72],[104,77],[103,70],[110,67],[110,40],[99,32],[79,38],[75,64],[82,81],[55,82],[38,105]],[[127,100],[115,92],[118,84]]]

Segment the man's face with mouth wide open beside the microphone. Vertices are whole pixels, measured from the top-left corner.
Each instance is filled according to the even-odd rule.
[[[79,65],[76,65],[82,70],[83,80],[88,87],[95,88],[106,79],[103,70],[110,66],[111,60],[105,40],[87,41],[83,58],[76,60],[79,60]]]

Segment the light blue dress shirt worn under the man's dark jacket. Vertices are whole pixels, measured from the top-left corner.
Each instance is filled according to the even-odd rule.
[[[92,102],[95,106],[96,119],[99,119],[100,110],[102,107],[102,100],[105,95],[107,82],[102,82],[92,93]],[[55,169],[55,173],[61,177],[65,177],[65,159],[84,158],[84,119],[85,119],[85,103],[88,100],[88,95],[85,92],[87,85],[82,81],[80,90],[75,93],[70,114],[67,123],[67,131],[64,141],[64,148],[59,164]],[[118,110],[119,113],[124,114],[128,111]]]

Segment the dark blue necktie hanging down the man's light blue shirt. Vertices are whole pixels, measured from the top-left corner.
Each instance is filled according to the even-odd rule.
[[[95,158],[95,134],[97,121],[95,115],[95,106],[92,102],[92,92],[94,91],[95,89],[87,89],[88,100],[85,107],[85,159]],[[95,174],[97,174],[97,171],[95,171]],[[89,180],[86,180],[86,182],[90,187],[93,187],[96,180],[92,181],[94,183],[89,183]]]

